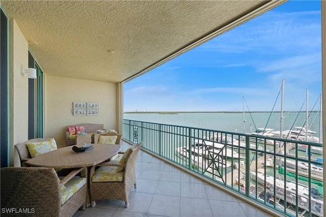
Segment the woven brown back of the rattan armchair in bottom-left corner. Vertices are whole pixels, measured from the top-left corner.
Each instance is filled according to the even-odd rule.
[[[59,216],[60,184],[53,168],[1,168],[1,209],[28,209],[19,216]],[[31,214],[32,213],[32,214]]]

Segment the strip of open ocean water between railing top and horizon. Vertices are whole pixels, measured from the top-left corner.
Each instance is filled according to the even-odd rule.
[[[319,112],[311,112],[308,118],[308,128],[316,131],[314,134],[316,137],[319,137],[319,117]],[[124,119],[239,133],[254,132],[259,127],[275,130],[280,130],[281,127],[280,112],[246,112],[244,119],[243,113],[125,113]],[[243,120],[246,120],[244,126]],[[283,113],[283,130],[288,130],[295,126],[306,126],[306,113]]]

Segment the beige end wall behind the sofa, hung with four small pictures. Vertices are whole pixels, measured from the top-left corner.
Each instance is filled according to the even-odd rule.
[[[46,73],[46,72],[45,72]],[[117,129],[117,84],[57,76],[45,76],[44,138],[65,146],[67,125],[104,124]],[[98,116],[73,116],[73,102],[98,102]]]

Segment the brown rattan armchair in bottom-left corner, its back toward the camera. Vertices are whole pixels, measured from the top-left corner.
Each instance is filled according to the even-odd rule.
[[[7,167],[1,168],[1,210],[26,213],[2,213],[3,216],[72,216],[79,208],[86,208],[87,183],[64,204],[61,187],[77,173],[87,176],[87,169],[75,169],[59,180],[53,168]],[[80,179],[78,179],[80,180]],[[85,179],[83,180],[84,182]],[[68,187],[67,187],[68,188]]]

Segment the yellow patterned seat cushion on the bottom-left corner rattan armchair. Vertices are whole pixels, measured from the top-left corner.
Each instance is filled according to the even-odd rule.
[[[81,187],[86,184],[86,178],[80,178],[78,176],[70,179],[66,184],[66,189],[60,192],[61,204],[64,204],[69,198],[71,198]]]

